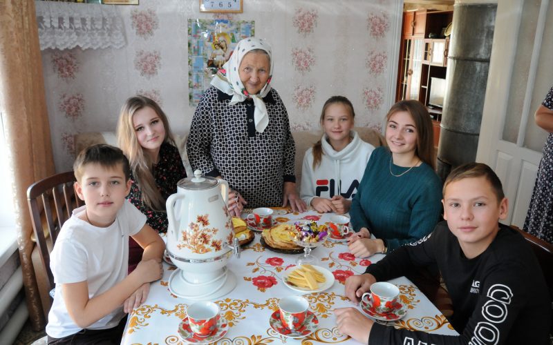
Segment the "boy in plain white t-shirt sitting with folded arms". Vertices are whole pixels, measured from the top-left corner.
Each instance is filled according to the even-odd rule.
[[[86,148],[73,170],[75,191],[86,205],[73,210],[50,254],[56,288],[48,344],[120,344],[125,313],[144,302],[149,283],[162,277],[165,244],[125,199],[129,160],[119,148]],[[144,254],[127,276],[129,236]]]

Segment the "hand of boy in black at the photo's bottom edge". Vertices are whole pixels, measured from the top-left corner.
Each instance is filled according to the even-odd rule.
[[[373,320],[363,315],[355,308],[337,308],[334,311],[338,331],[349,335],[361,344],[368,344],[368,337],[373,328]]]

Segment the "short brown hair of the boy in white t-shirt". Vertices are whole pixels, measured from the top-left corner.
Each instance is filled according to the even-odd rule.
[[[118,164],[121,164],[125,181],[131,178],[129,159],[126,159],[123,151],[115,146],[96,144],[82,150],[75,159],[75,163],[73,163],[73,171],[77,181],[81,181],[86,164],[100,164],[104,168],[115,168]]]

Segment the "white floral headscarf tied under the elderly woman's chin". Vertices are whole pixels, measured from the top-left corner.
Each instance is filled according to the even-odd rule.
[[[243,57],[248,52],[250,52],[250,50],[254,49],[265,50],[265,52],[267,52],[267,54],[269,55],[271,66],[269,71],[269,79],[267,79],[267,83],[265,83],[265,86],[261,88],[261,91],[259,91],[258,94],[250,95],[247,93],[244,84],[240,80],[240,75],[238,75],[238,68],[240,67],[240,63],[242,62]],[[232,99],[230,100],[231,105],[238,102],[243,102],[248,97],[251,97],[254,100],[255,130],[260,133],[263,133],[263,130],[265,130],[265,128],[267,128],[267,125],[269,124],[269,115],[267,114],[267,108],[265,107],[263,97],[265,97],[271,90],[270,82],[272,79],[273,65],[274,63],[272,63],[272,52],[269,44],[263,39],[250,37],[238,42],[238,45],[236,45],[236,48],[234,48],[229,61],[227,61],[223,65],[223,69],[219,70],[217,72],[217,75],[212,79],[213,86],[215,86],[222,92],[225,92],[227,95],[232,96]]]

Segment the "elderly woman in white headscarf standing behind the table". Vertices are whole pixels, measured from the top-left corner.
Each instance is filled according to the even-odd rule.
[[[264,40],[250,37],[238,42],[192,119],[190,164],[204,175],[228,181],[229,210],[236,216],[245,204],[306,209],[296,191],[288,113],[270,84],[273,65]]]

